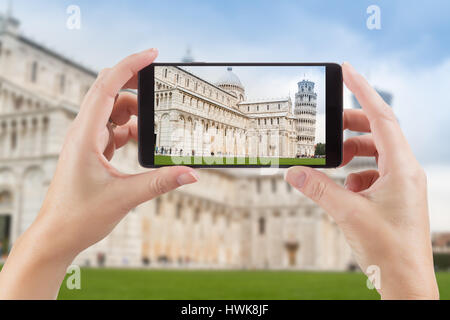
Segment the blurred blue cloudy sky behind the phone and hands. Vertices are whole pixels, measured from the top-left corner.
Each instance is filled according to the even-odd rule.
[[[5,4],[0,0],[0,10]],[[81,9],[80,30],[66,28],[72,4]],[[381,10],[380,30],[366,26],[373,4]],[[25,35],[95,70],[149,47],[159,49],[160,62],[180,61],[188,46],[197,61],[349,61],[392,93],[416,157],[431,168],[432,186],[448,186],[448,175],[433,168],[450,172],[449,13],[445,0],[13,0]],[[352,106],[346,89],[344,102]],[[441,217],[447,220],[432,219],[432,227],[450,229]]]

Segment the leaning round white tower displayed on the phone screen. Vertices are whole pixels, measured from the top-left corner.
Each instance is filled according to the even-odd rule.
[[[297,86],[294,105],[297,120],[297,155],[309,157],[314,155],[317,94],[312,81],[302,80]]]

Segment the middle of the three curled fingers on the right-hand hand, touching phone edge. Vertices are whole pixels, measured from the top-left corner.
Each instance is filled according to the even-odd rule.
[[[349,163],[354,157],[378,157],[377,147],[371,134],[345,140],[341,167]]]

